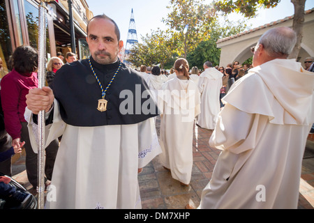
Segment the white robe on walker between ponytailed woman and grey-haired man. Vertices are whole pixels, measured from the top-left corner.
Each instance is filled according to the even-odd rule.
[[[223,86],[223,74],[216,68],[207,68],[200,75],[198,89],[201,93],[201,114],[197,124],[201,128],[214,130],[218,112],[220,111],[220,89]]]

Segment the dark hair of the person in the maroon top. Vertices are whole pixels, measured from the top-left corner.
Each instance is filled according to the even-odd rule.
[[[20,74],[29,74],[38,68],[38,52],[29,45],[17,47],[12,57],[13,68]]]

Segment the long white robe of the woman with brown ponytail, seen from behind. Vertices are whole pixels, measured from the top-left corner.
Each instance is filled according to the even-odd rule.
[[[200,114],[200,93],[197,85],[187,79],[173,78],[163,84],[158,94],[160,115],[159,155],[172,178],[188,185],[193,166],[193,125]]]

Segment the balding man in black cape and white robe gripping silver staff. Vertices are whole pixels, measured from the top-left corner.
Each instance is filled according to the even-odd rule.
[[[141,97],[147,98],[149,88],[117,58],[123,46],[117,24],[98,15],[89,21],[87,34],[91,57],[59,69],[53,93],[43,87],[27,95],[33,148],[38,143],[35,114],[41,110],[47,112],[45,144],[62,135],[45,207],[141,208],[138,171],[161,152],[156,105],[143,110]],[[102,96],[105,105],[98,102]]]

